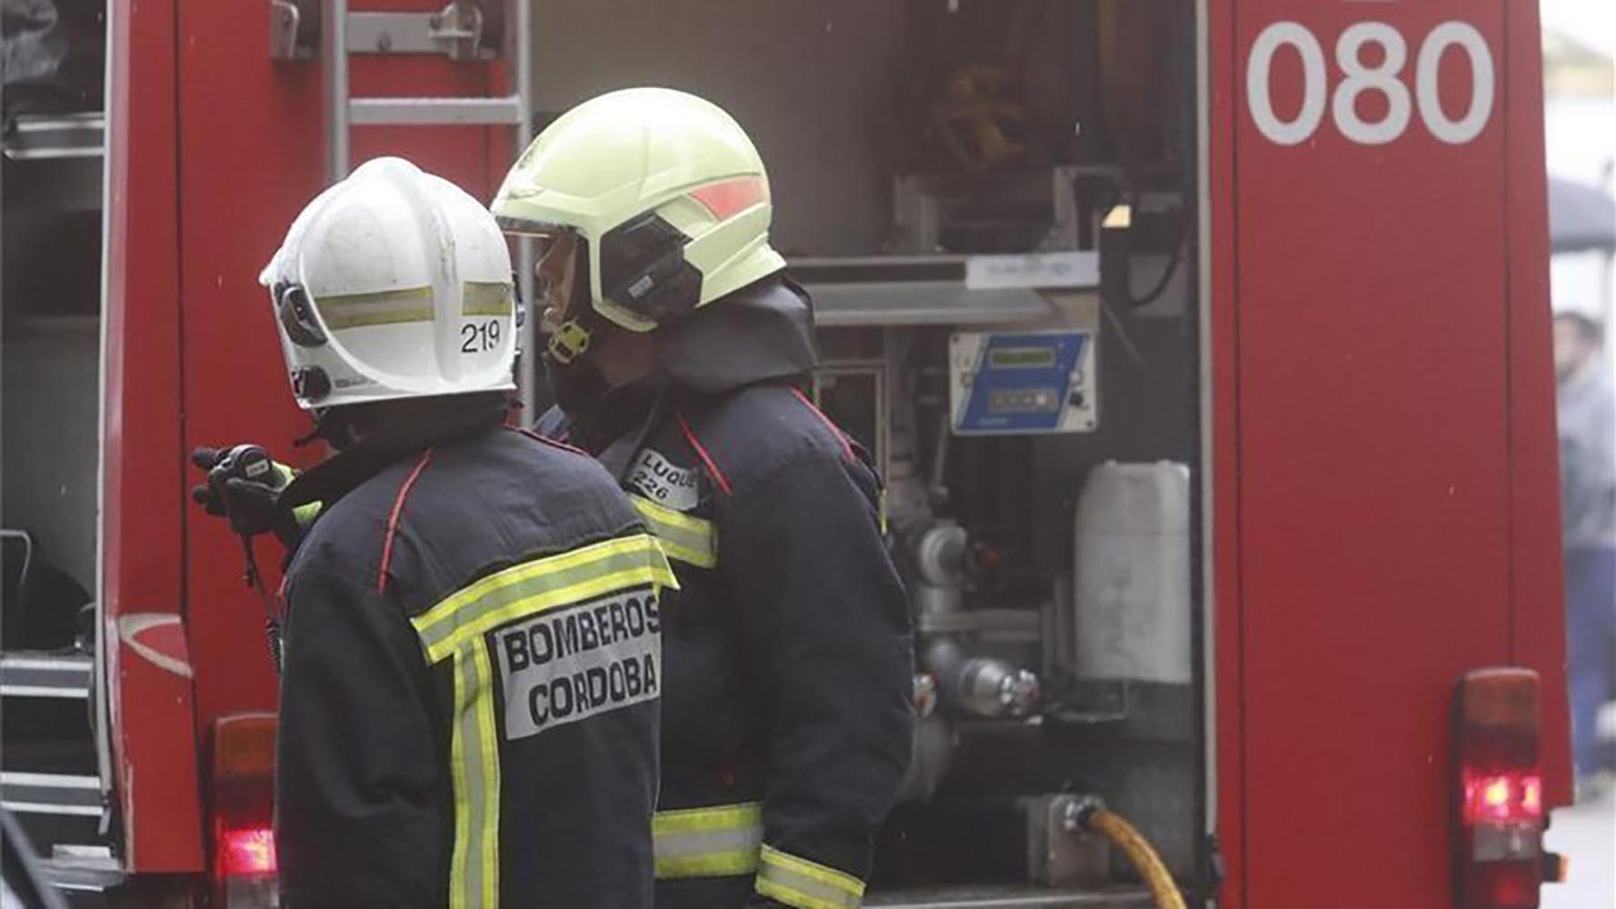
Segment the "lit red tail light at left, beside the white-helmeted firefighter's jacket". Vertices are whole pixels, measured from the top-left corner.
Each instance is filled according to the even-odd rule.
[[[275,860],[273,713],[238,713],[213,725],[210,828],[213,904],[278,906]]]

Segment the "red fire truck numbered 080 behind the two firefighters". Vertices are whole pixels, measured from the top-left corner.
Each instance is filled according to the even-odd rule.
[[[1191,904],[1537,906],[1534,3],[354,6],[112,0],[105,144],[8,112],[3,801],[55,880],[273,904],[276,683],[187,453],[318,456],[255,283],[292,215],[381,154],[486,199],[666,84],[761,147],[818,396],[889,477],[920,721],[871,904],[1151,906],[1097,796]]]

